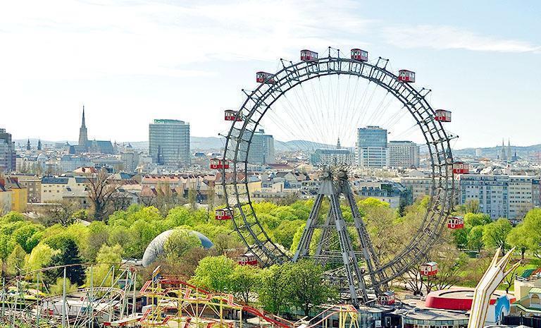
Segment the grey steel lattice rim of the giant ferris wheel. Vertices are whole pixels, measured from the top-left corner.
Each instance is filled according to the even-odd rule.
[[[280,248],[278,248],[273,241],[268,237],[263,226],[257,218],[254,207],[252,206],[251,197],[249,192],[245,193],[245,201],[241,201],[239,188],[237,185],[244,185],[245,190],[248,190],[248,159],[247,154],[251,145],[251,138],[259,126],[261,119],[265,116],[268,109],[285,95],[289,90],[301,85],[302,83],[313,80],[314,78],[321,78],[328,75],[354,75],[358,78],[364,78],[369,83],[375,83],[379,87],[382,87],[387,92],[390,92],[395,99],[402,102],[403,108],[405,107],[413,116],[416,121],[416,125],[420,128],[423,138],[425,138],[425,145],[428,146],[428,153],[430,157],[430,167],[432,171],[432,188],[430,192],[430,203],[428,209],[423,217],[421,226],[416,231],[409,245],[404,248],[399,254],[397,254],[392,260],[381,265],[375,272],[368,272],[368,274],[382,274],[387,272],[387,278],[385,281],[379,281],[380,284],[385,284],[392,279],[399,277],[410,269],[415,262],[418,262],[421,257],[425,256],[428,252],[430,245],[433,245],[437,238],[440,237],[444,223],[447,216],[452,210],[452,198],[454,193],[454,179],[452,174],[452,168],[449,169],[449,165],[452,165],[452,151],[449,141],[452,140],[452,135],[444,130],[440,121],[435,121],[435,110],[430,106],[425,96],[430,92],[428,89],[417,90],[411,83],[404,83],[398,80],[398,75],[387,71],[388,59],[379,57],[378,62],[375,64],[368,63],[366,61],[356,61],[354,59],[340,58],[333,56],[321,57],[313,61],[299,61],[293,63],[291,61],[282,62],[282,68],[274,73],[274,83],[260,83],[258,87],[252,92],[243,90],[247,95],[247,99],[244,101],[239,111],[237,111],[237,117],[242,117],[242,121],[233,121],[230,127],[228,136],[225,140],[225,147],[223,153],[223,160],[232,161],[232,183],[226,183],[226,170],[221,169],[222,173],[222,186],[225,196],[225,202],[228,207],[237,207],[239,209],[239,215],[233,216],[233,225],[235,231],[239,233],[242,241],[263,264],[273,264],[275,262],[284,262],[290,260]],[[285,62],[290,63],[286,66]],[[379,66],[380,62],[383,63]],[[345,67],[344,67],[345,66]],[[325,68],[325,69],[321,69]],[[282,89],[282,87],[284,87]],[[421,92],[427,90],[425,95]],[[270,97],[270,101],[267,99]],[[417,116],[416,116],[417,114]],[[256,119],[252,119],[253,117]],[[259,117],[258,117],[259,115]],[[249,133],[247,133],[249,131]],[[242,137],[249,135],[247,140]],[[230,150],[230,145],[234,144],[235,149]],[[240,145],[245,144],[246,150],[242,150],[244,160],[239,160]],[[244,164],[244,171],[237,169],[238,165]],[[241,168],[242,169],[242,168]],[[238,181],[237,175],[244,173],[244,181]],[[450,179],[450,180],[449,180]],[[450,183],[450,188],[449,188]],[[228,185],[233,186],[232,195],[228,191]],[[232,196],[232,200],[230,200]],[[235,202],[234,204],[232,202]],[[242,207],[247,207],[249,215],[253,217],[254,221],[248,221],[246,213]],[[235,218],[236,217],[236,218]],[[237,221],[237,220],[241,221]],[[254,232],[256,227],[257,232]],[[243,233],[247,233],[244,236]],[[259,236],[263,236],[263,241],[259,240]],[[247,237],[254,239],[254,243],[250,243]],[[367,285],[368,286],[368,285]]]

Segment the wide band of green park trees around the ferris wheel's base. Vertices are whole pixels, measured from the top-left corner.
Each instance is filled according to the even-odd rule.
[[[404,248],[421,223],[428,202],[424,198],[398,210],[374,198],[358,200],[383,262]],[[282,205],[257,202],[254,209],[270,238],[292,254],[312,205],[313,200]],[[328,206],[323,204],[321,212],[325,213]],[[342,211],[344,219],[352,221],[347,206]],[[414,267],[396,282],[396,288],[423,293],[450,286],[474,286],[497,248],[516,248],[517,259],[523,261],[521,269],[534,267],[541,260],[541,209],[531,209],[516,226],[506,219],[493,221],[480,213],[475,203],[456,207],[456,211],[464,216],[464,229],[446,229],[442,241],[425,259],[438,262],[437,276],[423,279]],[[171,207],[166,212],[153,206],[131,205],[103,220],[92,220],[93,214],[79,209],[72,211],[70,217],[56,210],[32,218],[10,212],[0,217],[1,275],[4,279],[20,275],[32,279],[32,272],[39,269],[70,265],[66,270],[68,286],[76,288],[91,284],[85,264],[102,263],[93,267],[92,284],[103,284],[111,264],[118,268],[123,259],[142,258],[147,245],[159,233],[175,229],[156,262],[167,274],[211,291],[232,293],[244,303],[259,303],[275,313],[293,307],[308,315],[313,306],[337,297],[335,289],[323,279],[325,267],[309,260],[265,269],[237,265],[237,256],[244,252],[244,246],[232,232],[232,222],[217,221],[209,212],[190,204]],[[202,248],[190,230],[209,237],[214,247]],[[354,247],[359,249],[354,231],[350,232]],[[318,231],[314,240],[317,234]],[[149,279],[151,269],[143,270],[140,279]],[[62,275],[60,268],[44,272],[42,279],[49,293],[58,291]],[[509,291],[511,285],[508,281],[504,288]]]

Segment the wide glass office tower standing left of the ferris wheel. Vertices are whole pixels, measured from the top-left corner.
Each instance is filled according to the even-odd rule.
[[[168,119],[150,123],[149,154],[158,165],[189,166],[189,123]]]

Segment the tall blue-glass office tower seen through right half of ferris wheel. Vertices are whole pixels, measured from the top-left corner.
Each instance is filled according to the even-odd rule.
[[[389,166],[387,130],[367,126],[357,130],[357,164],[365,168],[380,169]]]

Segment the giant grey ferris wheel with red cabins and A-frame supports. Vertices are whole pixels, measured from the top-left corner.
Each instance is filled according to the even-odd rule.
[[[379,57],[370,62],[368,51],[351,49],[351,56],[319,56],[316,51],[303,49],[300,61],[293,63],[280,59],[282,68],[276,73],[257,72],[255,90],[243,90],[246,100],[237,111],[225,111],[225,121],[231,126],[226,138],[225,151],[220,159],[211,159],[211,169],[221,171],[222,186],[226,207],[216,210],[216,219],[231,220],[235,230],[244,241],[249,252],[259,265],[297,261],[309,257],[330,267],[327,272],[330,281],[339,284],[342,296],[349,298],[353,305],[378,301],[387,292],[387,284],[401,276],[419,262],[427,260],[428,250],[440,238],[445,226],[448,229],[461,229],[464,221],[452,217],[454,193],[454,174],[467,174],[468,165],[454,162],[449,141],[456,138],[444,130],[443,123],[451,121],[451,111],[434,110],[426,95],[430,90],[413,87],[416,74],[409,70],[399,70],[395,75],[387,69],[387,59]],[[348,181],[347,167],[334,165],[323,168],[321,186],[316,195],[313,208],[306,221],[304,233],[297,252],[292,257],[276,245],[260,223],[254,208],[248,185],[244,179],[248,171],[248,152],[252,136],[258,129],[261,119],[273,111],[273,104],[290,90],[309,80],[321,80],[328,75],[350,75],[375,83],[402,104],[405,111],[413,117],[418,130],[424,136],[432,168],[433,187],[430,204],[423,223],[411,238],[407,247],[396,257],[382,262],[376,255],[371,238],[366,231],[354,195]],[[226,179],[225,176],[228,176]],[[340,200],[345,199],[353,214],[353,224],[344,220]],[[327,213],[321,212],[323,200],[330,202]],[[354,229],[354,238],[361,250],[353,248],[347,229]],[[318,233],[316,250],[310,245]],[[330,247],[330,241],[337,240],[339,247]],[[425,263],[421,268],[423,275],[435,274],[437,264]],[[376,298],[373,297],[375,294]]]

